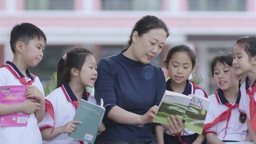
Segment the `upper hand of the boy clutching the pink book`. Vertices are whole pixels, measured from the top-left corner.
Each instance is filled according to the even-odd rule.
[[[37,101],[45,99],[43,93],[40,90],[38,90],[36,86],[33,85],[27,86],[26,97],[31,99],[37,99]]]

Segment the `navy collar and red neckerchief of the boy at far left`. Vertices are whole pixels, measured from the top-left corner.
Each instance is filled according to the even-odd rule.
[[[11,62],[7,61],[5,65],[2,65],[1,67],[7,68],[17,79],[20,81],[23,85],[31,85],[35,78],[36,75],[30,74],[28,70],[26,71],[27,76],[31,79],[30,81],[25,80],[25,76],[18,70],[18,68]]]

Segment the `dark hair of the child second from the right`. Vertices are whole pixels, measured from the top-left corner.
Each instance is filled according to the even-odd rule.
[[[233,54],[232,53],[225,53],[220,51],[211,61],[211,74],[214,75],[214,67],[217,63],[222,63],[223,65],[228,64],[229,66],[233,66]]]

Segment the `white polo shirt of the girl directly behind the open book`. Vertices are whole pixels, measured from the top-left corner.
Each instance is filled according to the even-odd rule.
[[[173,91],[172,88],[170,87],[170,82],[171,82],[171,79],[166,81],[166,90]],[[184,94],[184,95],[195,94],[195,95],[207,98],[206,92],[204,90],[202,90],[199,86],[195,85],[195,83],[193,81],[189,81],[189,80],[187,80],[185,90],[183,91],[182,94]],[[165,129],[165,134],[172,135],[170,133],[170,131],[167,129]],[[185,128],[184,131],[182,132],[182,135],[193,135],[193,134],[195,134],[195,132],[193,132],[187,128]]]

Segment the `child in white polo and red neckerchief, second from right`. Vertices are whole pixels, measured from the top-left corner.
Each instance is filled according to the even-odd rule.
[[[239,80],[232,66],[232,54],[219,54],[211,62],[211,72],[218,87],[208,98],[210,106],[203,132],[209,144],[243,142],[247,136],[246,115],[238,112]]]

